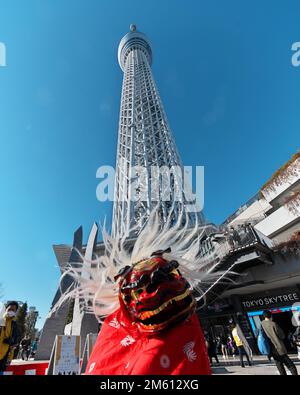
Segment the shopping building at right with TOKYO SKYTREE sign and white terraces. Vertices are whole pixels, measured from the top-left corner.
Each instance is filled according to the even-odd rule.
[[[235,258],[232,267],[238,276],[230,286],[219,287],[221,292],[199,310],[202,325],[215,337],[227,335],[229,320],[234,319],[255,352],[262,313],[269,309],[288,339],[300,313],[300,153],[276,171],[223,226],[233,233],[238,231],[238,238],[240,230],[252,226],[262,242],[250,252],[248,245],[248,255],[244,249]],[[250,253],[254,252],[257,257],[252,259]],[[239,263],[243,259],[244,263]],[[287,347],[290,349],[288,341]]]

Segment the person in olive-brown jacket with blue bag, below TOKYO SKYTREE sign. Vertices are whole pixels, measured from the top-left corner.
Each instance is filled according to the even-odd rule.
[[[278,324],[273,321],[272,313],[269,310],[265,310],[264,320],[262,321],[262,327],[270,339],[271,355],[274,358],[275,364],[280,375],[286,375],[286,366],[292,375],[298,375],[297,368],[293,361],[287,355],[287,350],[284,345],[284,332]]]

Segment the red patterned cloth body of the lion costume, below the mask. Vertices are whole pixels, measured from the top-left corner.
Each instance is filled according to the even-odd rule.
[[[119,308],[99,333],[86,375],[209,375],[196,314],[160,334],[141,333]]]

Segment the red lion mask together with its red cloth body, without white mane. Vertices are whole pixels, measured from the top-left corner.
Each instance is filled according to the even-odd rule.
[[[210,374],[190,285],[161,252],[122,268],[120,308],[103,324],[86,374]]]

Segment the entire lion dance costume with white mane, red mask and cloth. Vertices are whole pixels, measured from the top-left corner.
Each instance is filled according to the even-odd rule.
[[[199,270],[197,224],[171,222],[153,212],[131,252],[104,230],[105,255],[64,273],[77,287],[59,304],[79,297],[102,322],[86,375],[211,373],[194,295],[216,276]]]

